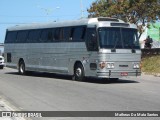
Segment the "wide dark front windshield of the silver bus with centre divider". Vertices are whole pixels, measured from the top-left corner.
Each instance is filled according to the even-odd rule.
[[[101,48],[140,49],[136,29],[101,27],[98,34]]]

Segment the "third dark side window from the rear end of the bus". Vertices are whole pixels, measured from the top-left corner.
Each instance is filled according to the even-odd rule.
[[[31,31],[29,32],[27,42],[29,42],[29,43],[39,42],[40,33],[41,33],[40,30],[31,30]]]

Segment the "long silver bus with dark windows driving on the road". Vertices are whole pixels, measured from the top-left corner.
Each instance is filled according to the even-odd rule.
[[[99,17],[22,25],[6,31],[7,67],[85,77],[140,76],[137,28],[122,20]]]

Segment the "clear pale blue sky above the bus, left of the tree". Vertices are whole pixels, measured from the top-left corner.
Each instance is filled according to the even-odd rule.
[[[8,27],[24,23],[76,20],[87,17],[95,0],[0,0],[0,43]],[[82,3],[82,4],[81,4]],[[81,9],[83,8],[83,9]]]

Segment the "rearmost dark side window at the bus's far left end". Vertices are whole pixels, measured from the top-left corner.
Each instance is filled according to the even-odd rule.
[[[16,37],[17,37],[16,31],[7,32],[5,43],[14,43],[16,41]]]

